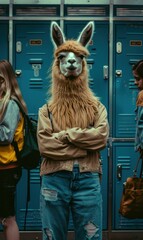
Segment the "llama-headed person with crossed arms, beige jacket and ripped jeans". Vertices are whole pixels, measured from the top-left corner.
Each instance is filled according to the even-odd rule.
[[[39,109],[37,130],[43,240],[66,240],[70,214],[76,240],[102,239],[100,150],[109,127],[106,108],[88,85],[87,46],[93,32],[89,22],[77,40],[66,40],[59,25],[51,23],[51,97]]]

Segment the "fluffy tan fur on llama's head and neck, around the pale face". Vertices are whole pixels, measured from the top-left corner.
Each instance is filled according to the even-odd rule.
[[[99,104],[98,98],[88,86],[87,64],[83,60],[83,71],[78,77],[66,78],[60,72],[57,59],[61,51],[89,54],[88,50],[76,41],[66,41],[56,50],[52,67],[52,97],[48,104],[49,110],[62,130],[72,127],[86,128],[95,121]]]

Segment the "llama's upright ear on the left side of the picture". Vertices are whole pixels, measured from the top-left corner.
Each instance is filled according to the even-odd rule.
[[[65,42],[64,34],[56,22],[51,23],[51,38],[56,48]]]

